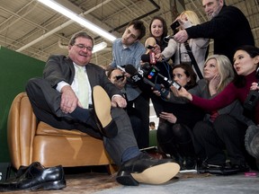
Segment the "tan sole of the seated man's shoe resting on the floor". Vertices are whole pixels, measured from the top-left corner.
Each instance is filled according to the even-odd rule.
[[[148,168],[144,172],[131,173],[134,180],[147,184],[162,184],[171,180],[180,171],[178,163],[163,163]]]

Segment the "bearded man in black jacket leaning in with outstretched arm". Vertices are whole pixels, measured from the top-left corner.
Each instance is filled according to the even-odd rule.
[[[210,21],[179,31],[174,40],[183,43],[196,38],[213,39],[214,54],[225,55],[230,61],[235,48],[255,45],[249,22],[237,7],[227,6],[224,0],[202,0],[202,6]]]

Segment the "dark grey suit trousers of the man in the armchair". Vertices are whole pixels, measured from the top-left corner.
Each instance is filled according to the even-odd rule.
[[[103,137],[94,119],[94,110],[89,109],[90,118],[82,123],[60,110],[61,93],[51,87],[43,78],[32,78],[26,85],[26,92],[37,119],[48,123],[53,128],[78,129],[86,134],[103,139],[104,147],[114,163],[121,165],[121,156],[130,147],[138,147],[129,116],[121,108],[112,108],[118,135],[113,138]]]

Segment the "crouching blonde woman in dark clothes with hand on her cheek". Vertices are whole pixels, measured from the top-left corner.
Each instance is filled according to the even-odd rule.
[[[204,80],[198,82],[198,87],[188,91],[203,99],[218,96],[234,80],[233,66],[228,57],[223,55],[208,57],[203,74]],[[228,101],[228,97],[223,101]],[[200,172],[229,174],[249,171],[244,137],[247,126],[253,124],[253,121],[247,119],[243,112],[243,106],[236,100],[221,109],[208,109],[207,117],[196,123],[193,136],[195,152],[201,160]],[[226,163],[225,149],[231,165]]]

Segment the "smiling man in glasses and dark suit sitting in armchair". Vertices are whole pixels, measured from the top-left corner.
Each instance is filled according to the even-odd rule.
[[[170,180],[179,171],[179,165],[139,151],[129,116],[122,109],[127,102],[104,69],[90,63],[93,46],[92,37],[85,32],[76,33],[69,42],[68,56],[49,57],[43,78],[28,82],[26,92],[36,117],[54,128],[76,128],[103,138],[108,154],[120,166],[116,180],[123,185]],[[85,72],[83,90],[78,76],[80,68]],[[86,92],[83,98],[79,97],[81,92]]]

